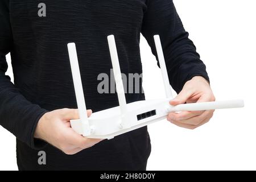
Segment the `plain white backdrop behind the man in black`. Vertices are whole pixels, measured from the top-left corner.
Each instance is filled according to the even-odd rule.
[[[255,43],[256,2],[253,0],[176,0],[185,29],[207,65],[217,100],[243,98],[242,109],[216,110],[196,130],[160,121],[148,127],[152,152],[148,170],[256,169]],[[141,38],[146,99],[164,97],[160,69]],[[13,73],[10,55],[9,70]],[[0,126],[0,170],[17,170],[15,137]]]

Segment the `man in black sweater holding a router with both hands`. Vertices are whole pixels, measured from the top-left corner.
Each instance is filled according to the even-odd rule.
[[[102,141],[71,129],[69,121],[79,115],[77,109],[63,109],[77,107],[69,42],[76,43],[89,115],[118,105],[117,94],[97,92],[97,76],[110,75],[112,68],[106,40],[110,34],[126,75],[142,73],[140,33],[154,55],[153,35],[160,35],[170,84],[179,93],[171,105],[214,100],[205,65],[170,0],[3,0],[0,14],[0,123],[17,138],[20,170],[146,169],[151,151],[147,127]],[[8,52],[14,84],[5,75]],[[144,100],[144,94],[129,93],[126,100]],[[170,113],[167,119],[195,129],[212,114],[186,111]],[[47,154],[45,165],[38,163],[40,150]]]

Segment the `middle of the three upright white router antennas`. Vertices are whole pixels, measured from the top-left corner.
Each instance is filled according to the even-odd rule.
[[[108,36],[108,42],[109,42],[109,51],[110,51],[111,61],[113,65],[113,72],[115,77],[115,85],[117,87],[119,106],[120,106],[121,114],[125,115],[127,112],[125,90],[123,89],[123,81],[122,81],[119,60],[118,60],[117,47],[115,46],[114,35]]]

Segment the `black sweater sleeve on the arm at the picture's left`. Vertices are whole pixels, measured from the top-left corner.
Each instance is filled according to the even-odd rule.
[[[36,125],[47,110],[32,104],[20,94],[19,89],[5,75],[6,54],[13,49],[9,0],[0,1],[0,125],[32,148],[41,147],[42,141],[34,139]],[[37,141],[37,142],[36,142]],[[35,144],[36,143],[36,144]]]

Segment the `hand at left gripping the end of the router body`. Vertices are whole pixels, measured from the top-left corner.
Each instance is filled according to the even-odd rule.
[[[92,110],[87,110],[87,114],[90,116]],[[45,140],[68,155],[92,147],[102,140],[89,139],[77,134],[71,128],[71,119],[79,119],[77,109],[59,109],[48,112],[40,118],[34,137]]]

